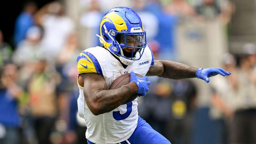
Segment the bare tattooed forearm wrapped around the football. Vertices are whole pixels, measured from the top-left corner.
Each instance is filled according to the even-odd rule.
[[[132,94],[137,92],[137,85],[133,82],[123,85],[118,89],[101,90],[95,93],[93,101],[94,108],[97,109],[97,115],[110,112],[120,105],[124,104]]]

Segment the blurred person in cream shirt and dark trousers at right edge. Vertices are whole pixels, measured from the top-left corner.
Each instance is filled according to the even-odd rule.
[[[256,46],[254,44],[243,47],[244,56],[240,60],[238,71],[237,95],[232,99],[234,118],[231,122],[231,143],[256,143],[256,86],[255,67]]]

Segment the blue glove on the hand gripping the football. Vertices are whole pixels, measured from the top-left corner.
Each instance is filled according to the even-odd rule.
[[[130,73],[130,82],[134,82],[137,86],[138,86],[138,91],[137,93],[139,93],[139,97],[140,96],[145,96],[146,92],[148,92],[148,85],[150,84],[150,81],[147,81],[148,77],[147,76],[143,76],[143,77],[139,77],[136,76],[134,74],[134,72]]]

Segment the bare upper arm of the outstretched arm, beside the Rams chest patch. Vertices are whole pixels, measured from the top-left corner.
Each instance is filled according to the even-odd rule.
[[[155,60],[155,64],[151,66],[148,70],[146,76],[159,76],[164,72],[163,63],[160,60]]]

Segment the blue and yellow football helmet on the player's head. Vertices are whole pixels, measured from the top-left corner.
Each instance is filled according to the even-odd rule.
[[[100,42],[126,65],[140,60],[146,43],[146,31],[139,15],[127,7],[116,7],[100,21]],[[123,49],[132,49],[126,52]]]

